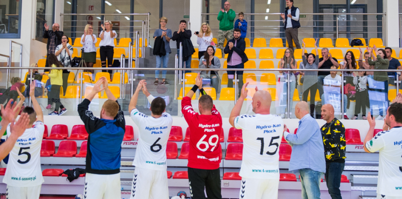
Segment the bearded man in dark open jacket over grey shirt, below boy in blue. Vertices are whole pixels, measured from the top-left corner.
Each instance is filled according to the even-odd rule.
[[[227,2],[227,1],[226,1]],[[228,69],[230,68],[241,68],[244,69],[244,63],[249,61],[246,53],[246,42],[244,38],[240,38],[241,30],[235,29],[233,32],[234,38],[229,40],[226,44],[224,53],[228,55]],[[239,96],[243,87],[243,71],[228,71],[228,88],[233,88],[234,75],[237,75],[237,80],[239,82],[235,83],[239,85]]]

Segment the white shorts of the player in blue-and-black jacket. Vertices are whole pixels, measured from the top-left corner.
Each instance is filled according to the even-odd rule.
[[[120,199],[122,198],[120,173],[85,175],[85,199]]]

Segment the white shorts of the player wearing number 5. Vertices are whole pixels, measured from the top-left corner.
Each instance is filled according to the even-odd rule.
[[[13,187],[7,186],[7,199],[39,199],[40,189],[42,185],[34,187]]]

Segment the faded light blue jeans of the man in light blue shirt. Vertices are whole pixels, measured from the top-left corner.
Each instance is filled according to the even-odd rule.
[[[320,199],[320,182],[322,172],[312,169],[300,169],[301,198]]]

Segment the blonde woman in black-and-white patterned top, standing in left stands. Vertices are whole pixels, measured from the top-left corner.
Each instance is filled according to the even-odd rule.
[[[56,53],[54,55],[57,56],[57,59],[61,62],[64,67],[71,68],[71,55],[73,54],[73,46],[68,43],[68,37],[63,35],[61,37],[61,44],[56,47]],[[67,91],[67,80],[70,71],[65,69],[63,70],[63,93],[66,95]]]

